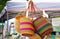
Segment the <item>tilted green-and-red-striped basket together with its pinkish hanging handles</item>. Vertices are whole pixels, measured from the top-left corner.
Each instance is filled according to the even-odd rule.
[[[28,15],[29,12],[31,13],[30,16],[32,16],[33,19],[36,17],[36,19],[33,20],[33,23],[37,33],[40,34],[42,38],[51,34],[53,27],[49,18],[43,17],[43,11],[41,11],[40,8],[37,8],[32,1],[30,1],[28,5]]]

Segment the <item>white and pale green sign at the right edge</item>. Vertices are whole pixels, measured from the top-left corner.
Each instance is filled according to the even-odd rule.
[[[60,32],[60,18],[52,18],[53,31]]]

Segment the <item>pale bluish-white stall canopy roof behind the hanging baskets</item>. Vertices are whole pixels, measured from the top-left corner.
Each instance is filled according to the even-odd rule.
[[[59,2],[34,2],[34,4],[44,10],[60,10],[60,3]],[[14,2],[8,1],[7,2],[7,10],[8,11],[19,11],[21,8],[26,8],[27,2]],[[18,10],[17,10],[18,9]]]

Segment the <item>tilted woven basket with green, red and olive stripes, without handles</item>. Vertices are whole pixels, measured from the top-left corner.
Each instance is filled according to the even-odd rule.
[[[34,25],[37,32],[42,36],[45,37],[52,32],[52,25],[48,18],[44,18],[43,16],[38,17],[34,20]]]

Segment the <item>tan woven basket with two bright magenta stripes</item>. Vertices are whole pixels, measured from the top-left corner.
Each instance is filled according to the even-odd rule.
[[[24,36],[32,36],[34,34],[34,28],[32,21],[29,18],[20,19],[20,31]]]

